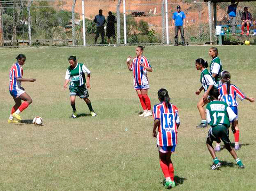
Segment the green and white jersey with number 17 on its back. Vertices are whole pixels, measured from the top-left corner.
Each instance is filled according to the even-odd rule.
[[[237,116],[230,106],[224,101],[214,100],[206,106],[207,123],[211,126],[225,125],[230,126],[230,122]]]

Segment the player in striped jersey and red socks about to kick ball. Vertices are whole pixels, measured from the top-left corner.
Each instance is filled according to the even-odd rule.
[[[22,78],[23,77],[22,66],[26,62],[26,56],[24,54],[19,54],[16,57],[16,59],[17,59],[17,62],[14,63],[10,69],[9,90],[10,90],[11,96],[13,97],[13,100],[15,101],[15,105],[11,110],[11,115],[8,119],[8,123],[18,123],[21,120],[19,113],[25,110],[29,106],[29,104],[32,103],[32,99],[29,96],[29,94],[27,94],[24,88],[21,87],[21,82],[36,81],[36,79],[34,78],[30,78],[30,79]],[[21,100],[24,101],[22,104],[21,104]]]

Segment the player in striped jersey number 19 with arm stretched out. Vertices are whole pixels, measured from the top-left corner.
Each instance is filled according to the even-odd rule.
[[[230,84],[230,73],[227,71],[223,71],[221,73],[221,81],[223,85],[218,88],[220,92],[220,99],[227,103],[228,106],[231,107],[233,112],[237,115],[237,117],[234,119],[231,125],[232,132],[235,137],[235,150],[239,150],[239,128],[238,128],[238,103],[237,103],[237,97],[240,100],[249,100],[250,102],[254,102],[255,99],[253,97],[246,97],[245,94],[243,94],[242,91],[240,91],[237,86]],[[220,151],[220,144],[217,143],[215,151]]]

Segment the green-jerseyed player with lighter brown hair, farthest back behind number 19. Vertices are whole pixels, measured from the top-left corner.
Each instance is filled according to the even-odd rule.
[[[218,57],[219,52],[216,47],[211,47],[209,50],[209,56],[211,56],[212,60],[210,63],[210,72],[212,75],[212,78],[214,79],[217,87],[221,85],[220,81],[220,72],[222,72],[222,63],[220,61],[220,58]]]

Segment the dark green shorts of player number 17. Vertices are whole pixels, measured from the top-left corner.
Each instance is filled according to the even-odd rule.
[[[207,139],[209,141],[216,141],[220,143],[220,139],[224,142],[224,144],[230,144],[230,140],[228,138],[228,128],[224,125],[217,125],[211,127],[208,132]]]

